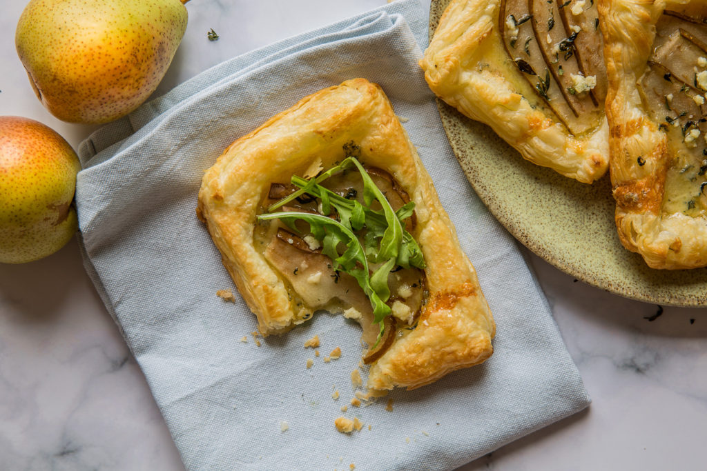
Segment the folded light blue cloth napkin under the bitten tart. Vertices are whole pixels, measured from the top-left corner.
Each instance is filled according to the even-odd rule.
[[[449,470],[588,405],[518,247],[450,151],[417,65],[426,28],[416,0],[395,1],[211,68],[81,144],[86,268],[187,469]],[[404,121],[498,326],[488,362],[396,390],[392,412],[387,399],[349,404],[360,330],[341,316],[318,314],[256,345],[255,316],[194,213],[201,175],[228,144],[301,97],[357,76],[379,83]],[[232,289],[235,303],[217,297],[221,289]],[[320,357],[303,348],[315,334]],[[341,359],[322,362],[334,347]],[[340,434],[341,415],[358,417],[363,429]]]

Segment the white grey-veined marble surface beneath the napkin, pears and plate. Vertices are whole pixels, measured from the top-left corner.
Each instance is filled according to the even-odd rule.
[[[162,92],[231,56],[385,0],[193,0]],[[427,2],[426,2],[427,3]],[[0,114],[52,126],[74,147],[91,126],[54,119],[14,49],[25,2],[3,2]],[[206,40],[214,28],[221,39]],[[593,403],[462,470],[701,470],[707,309],[633,302],[531,256]],[[0,470],[183,470],[144,377],[83,271],[76,240],[0,265]]]

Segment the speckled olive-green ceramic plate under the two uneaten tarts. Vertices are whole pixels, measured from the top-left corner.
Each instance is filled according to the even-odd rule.
[[[449,0],[432,0],[433,32]],[[575,278],[655,304],[707,305],[707,268],[653,270],[621,246],[609,177],[592,185],[538,167],[438,100],[452,150],[482,201],[513,236]]]

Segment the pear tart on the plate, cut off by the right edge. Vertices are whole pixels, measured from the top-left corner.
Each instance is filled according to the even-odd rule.
[[[652,268],[707,266],[707,4],[599,8],[621,243]]]

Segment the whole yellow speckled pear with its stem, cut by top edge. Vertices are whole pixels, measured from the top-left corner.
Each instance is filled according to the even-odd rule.
[[[72,123],[132,112],[170,66],[187,28],[187,1],[30,1],[15,45],[37,97]]]

